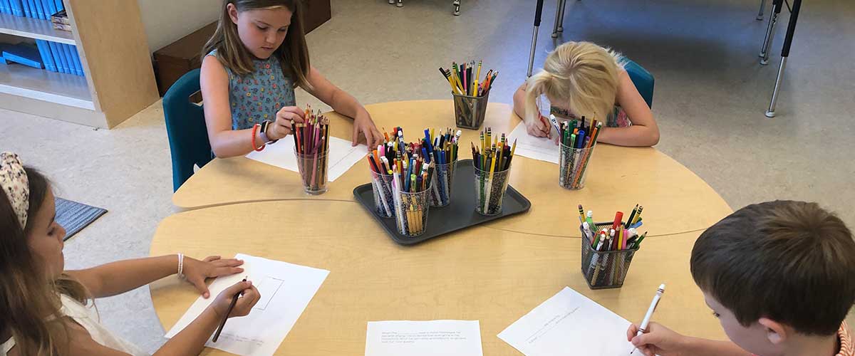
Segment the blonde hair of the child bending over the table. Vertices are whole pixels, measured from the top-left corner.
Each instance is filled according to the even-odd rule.
[[[615,106],[621,55],[590,42],[568,42],[546,56],[543,70],[528,79],[526,121],[538,118],[540,95],[569,104],[576,115],[605,120]]]

